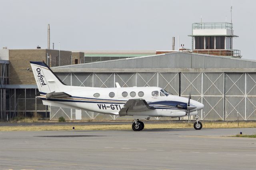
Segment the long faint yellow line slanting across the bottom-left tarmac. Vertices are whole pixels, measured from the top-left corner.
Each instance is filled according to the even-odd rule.
[[[53,164],[64,164],[64,165],[67,165],[67,166],[71,165],[70,163],[48,162],[48,161],[37,161],[37,160],[16,160],[16,159],[2,159],[2,158],[0,158],[0,160],[10,160],[10,161],[20,161],[20,162],[53,163]],[[162,169],[162,168],[148,168],[148,167],[136,167],[136,166],[108,166],[108,165],[94,165],[94,164],[72,164],[72,165],[78,165],[78,166],[100,166],[100,167],[110,167],[110,168],[134,168],[134,169],[150,169],[150,170],[170,170],[170,169]],[[44,166],[31,166],[31,167],[44,167]]]

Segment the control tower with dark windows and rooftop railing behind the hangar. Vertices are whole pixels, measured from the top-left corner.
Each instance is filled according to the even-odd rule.
[[[193,23],[192,52],[241,58],[240,50],[233,49],[233,24]]]

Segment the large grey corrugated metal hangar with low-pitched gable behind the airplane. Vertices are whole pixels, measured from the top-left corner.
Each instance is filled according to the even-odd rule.
[[[144,57],[52,67],[67,85],[158,86],[204,104],[205,120],[256,120],[256,61],[236,57],[172,52]],[[131,119],[51,107],[50,119]],[[158,118],[155,119],[170,119]]]

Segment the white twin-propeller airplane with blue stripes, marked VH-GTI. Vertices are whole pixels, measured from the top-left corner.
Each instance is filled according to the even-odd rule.
[[[195,115],[194,128],[200,130],[198,112],[202,103],[191,100],[191,96],[174,96],[160,87],[114,88],[78,87],[65,85],[44,63],[30,61],[36,84],[44,105],[83,109],[108,115],[133,116],[132,129],[140,131],[150,117],[184,117]]]

